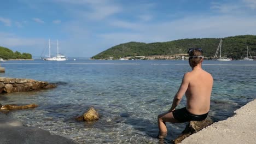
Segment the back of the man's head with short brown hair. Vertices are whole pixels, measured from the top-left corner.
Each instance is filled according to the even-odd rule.
[[[189,65],[194,68],[197,64],[201,62],[202,50],[193,49],[189,52]]]

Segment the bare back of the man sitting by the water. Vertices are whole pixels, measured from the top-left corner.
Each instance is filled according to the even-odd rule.
[[[195,115],[207,113],[210,110],[210,99],[213,86],[213,77],[201,68],[193,69],[185,74],[189,85],[185,92],[187,110]]]

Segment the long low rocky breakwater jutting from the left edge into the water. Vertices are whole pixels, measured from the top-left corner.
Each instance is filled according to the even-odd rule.
[[[54,83],[45,81],[0,77],[0,93],[28,92],[55,87],[56,85]]]

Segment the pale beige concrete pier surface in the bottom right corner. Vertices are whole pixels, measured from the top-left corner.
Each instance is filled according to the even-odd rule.
[[[235,115],[190,135],[184,143],[256,143],[256,99],[235,111]]]

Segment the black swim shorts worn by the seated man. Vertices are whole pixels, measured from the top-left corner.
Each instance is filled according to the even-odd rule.
[[[189,121],[203,121],[206,119],[208,112],[203,115],[194,115],[187,111],[186,107],[183,107],[182,109],[174,110],[172,114],[175,119],[184,123]]]

